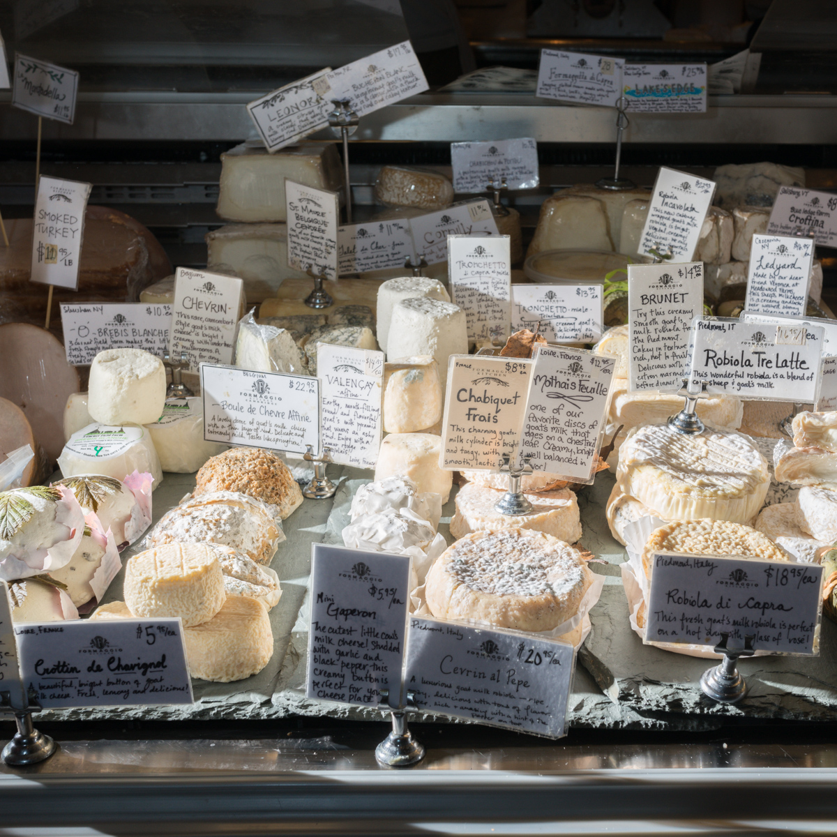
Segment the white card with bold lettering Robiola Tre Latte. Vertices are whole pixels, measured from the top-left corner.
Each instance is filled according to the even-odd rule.
[[[783,326],[723,320],[692,325],[690,378],[706,381],[711,395],[737,395],[768,401],[815,403],[823,330],[806,329],[805,343],[779,335]]]

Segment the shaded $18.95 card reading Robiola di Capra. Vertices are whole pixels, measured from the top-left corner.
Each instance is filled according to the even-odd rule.
[[[823,567],[736,556],[655,552],[645,642],[819,654]]]

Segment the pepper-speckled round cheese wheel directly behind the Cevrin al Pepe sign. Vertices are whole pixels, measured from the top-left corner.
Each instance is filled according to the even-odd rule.
[[[465,535],[430,567],[425,598],[437,619],[552,630],[578,613],[593,581],[578,550],[527,529]]]

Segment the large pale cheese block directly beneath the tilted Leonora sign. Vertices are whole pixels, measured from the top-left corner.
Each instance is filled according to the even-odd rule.
[[[291,146],[268,153],[259,146],[239,146],[221,155],[219,218],[244,223],[287,220],[285,177],[304,186],[338,192],[340,157],[336,146]]]

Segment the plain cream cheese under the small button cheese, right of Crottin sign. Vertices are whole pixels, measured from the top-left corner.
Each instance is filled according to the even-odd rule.
[[[273,632],[264,604],[230,596],[208,622],[183,632],[189,672],[198,680],[230,683],[258,674],[273,654]]]

